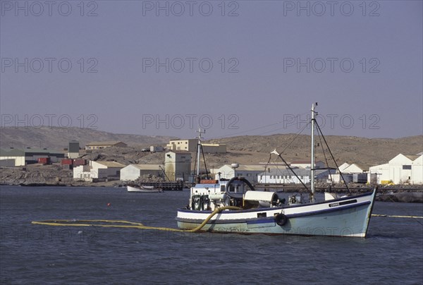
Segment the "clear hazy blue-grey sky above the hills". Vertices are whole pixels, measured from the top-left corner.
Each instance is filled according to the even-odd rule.
[[[422,1],[0,1],[1,127],[423,133]]]

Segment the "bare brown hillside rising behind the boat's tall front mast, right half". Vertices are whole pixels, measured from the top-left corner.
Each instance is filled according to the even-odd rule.
[[[267,136],[240,136],[233,138],[221,138],[211,140],[214,143],[226,143],[229,152],[245,152],[252,157],[260,156],[261,161],[269,159],[269,153],[275,148],[284,159],[288,161],[309,159],[310,136],[309,135],[267,135]],[[295,138],[295,140],[293,140]],[[376,165],[384,164],[395,157],[398,153],[417,154],[423,151],[423,135],[407,138],[357,138],[331,135],[325,137],[328,145],[339,163]],[[316,137],[316,157],[324,161],[330,157],[323,139]],[[322,148],[322,145],[324,146]],[[273,159],[272,159],[273,160]]]

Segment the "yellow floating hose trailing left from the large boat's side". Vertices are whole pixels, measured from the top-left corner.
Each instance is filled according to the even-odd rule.
[[[195,233],[197,231],[200,231],[207,224],[207,222],[212,219],[212,217],[214,217],[216,214],[219,214],[223,210],[242,210],[242,208],[235,206],[219,207],[214,210],[211,214],[209,214],[209,217],[207,217],[207,219],[204,219],[204,221],[195,229],[173,229],[161,226],[145,226],[144,224],[138,222],[128,222],[110,219],[51,219],[44,221],[34,221],[31,222],[31,224],[41,224],[44,226],[102,226],[105,228],[154,229],[157,231],[182,231]]]

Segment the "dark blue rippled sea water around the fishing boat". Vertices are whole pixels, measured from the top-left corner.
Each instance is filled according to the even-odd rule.
[[[176,228],[189,191],[0,187],[1,284],[423,284],[423,220],[372,217],[367,238],[43,226],[119,219]],[[374,214],[423,216],[376,202]]]

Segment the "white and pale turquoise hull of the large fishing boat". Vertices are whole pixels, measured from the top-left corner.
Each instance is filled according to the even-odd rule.
[[[372,193],[311,204],[226,210],[212,217],[202,231],[365,237],[375,195],[376,190]],[[178,227],[194,229],[210,213],[211,211],[180,209],[176,217]],[[283,225],[276,223],[278,214],[286,216]]]

